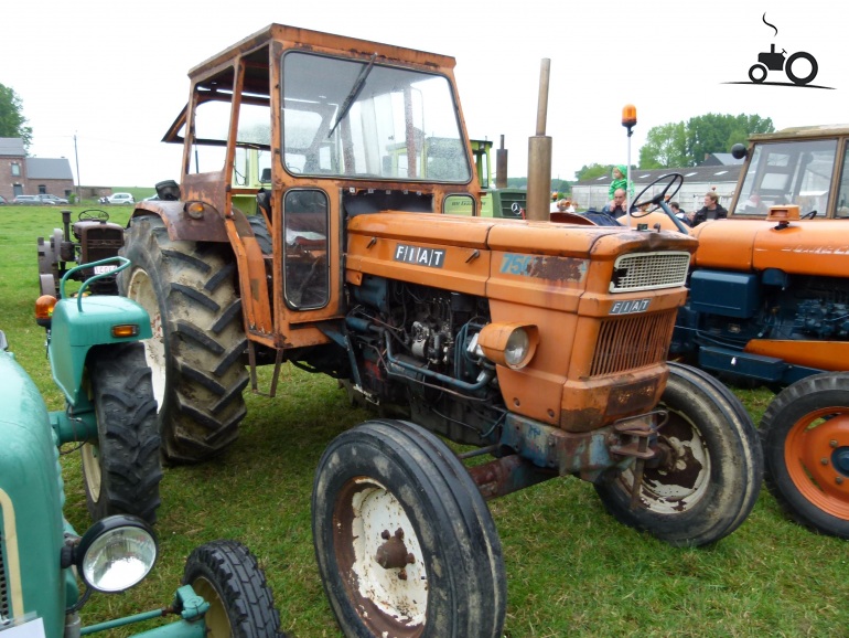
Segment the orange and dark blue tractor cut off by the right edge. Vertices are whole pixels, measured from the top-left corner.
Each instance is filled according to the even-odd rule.
[[[699,240],[671,357],[778,392],[766,482],[796,521],[849,539],[849,127],[754,136],[728,220]]]

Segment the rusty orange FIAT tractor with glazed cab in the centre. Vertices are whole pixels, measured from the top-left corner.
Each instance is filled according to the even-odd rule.
[[[121,249],[166,458],[233,443],[259,365],[270,394],[289,362],[379,410],[330,444],[312,497],[348,636],[501,636],[488,498],[572,475],[622,522],[702,545],[760,489],[745,410],[667,363],[696,241],[551,223],[550,176],[528,220],[482,217],[453,67],[279,24],[250,35],[190,72],[165,136],[181,181],[136,204]]]

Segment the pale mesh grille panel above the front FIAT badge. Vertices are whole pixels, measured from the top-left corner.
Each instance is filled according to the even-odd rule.
[[[636,293],[684,286],[690,254],[679,252],[632,253],[613,264],[611,293]]]

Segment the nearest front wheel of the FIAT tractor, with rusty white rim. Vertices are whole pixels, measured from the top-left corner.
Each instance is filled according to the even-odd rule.
[[[345,636],[502,636],[495,524],[466,469],[429,432],[377,419],[334,439],[315,474],[312,532]]]

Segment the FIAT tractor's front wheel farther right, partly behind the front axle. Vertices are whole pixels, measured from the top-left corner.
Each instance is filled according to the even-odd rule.
[[[659,444],[668,457],[645,468],[638,504],[631,509],[634,476],[626,470],[595,490],[620,522],[675,546],[713,543],[752,511],[763,457],[757,430],[740,401],[716,379],[669,363],[660,405],[669,421]]]

